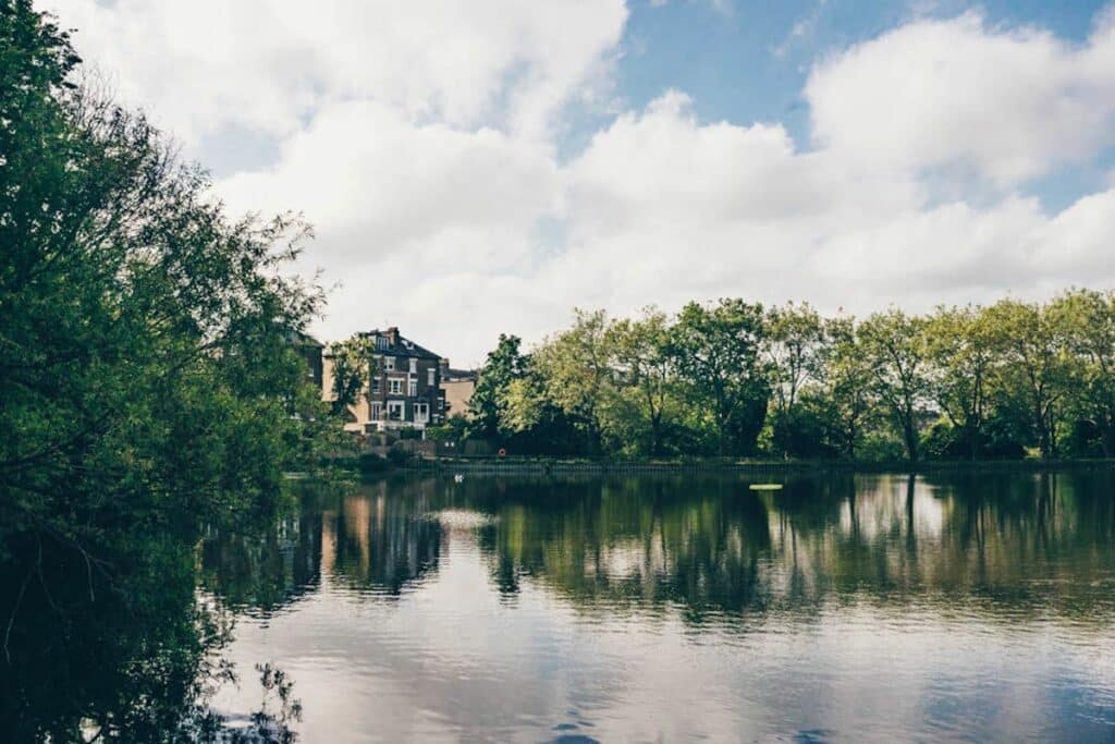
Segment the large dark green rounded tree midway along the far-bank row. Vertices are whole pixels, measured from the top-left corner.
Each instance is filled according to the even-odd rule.
[[[673,327],[670,351],[692,400],[711,417],[719,454],[748,454],[766,418],[769,381],[760,357],[763,307],[721,299],[690,302]]]

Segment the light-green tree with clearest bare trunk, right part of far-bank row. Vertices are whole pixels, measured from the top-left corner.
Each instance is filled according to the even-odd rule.
[[[871,368],[874,394],[890,410],[910,462],[918,460],[918,412],[930,388],[925,375],[925,321],[892,308],[860,323],[859,346]]]

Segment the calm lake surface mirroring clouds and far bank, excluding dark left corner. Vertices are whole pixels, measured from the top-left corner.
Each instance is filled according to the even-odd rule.
[[[1115,741],[1111,474],[388,481],[202,568],[306,742]]]

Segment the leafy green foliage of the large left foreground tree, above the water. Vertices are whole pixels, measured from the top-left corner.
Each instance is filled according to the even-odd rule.
[[[321,291],[308,229],[230,221],[143,116],[0,3],[0,523],[197,524],[259,505],[328,439],[292,345]]]

